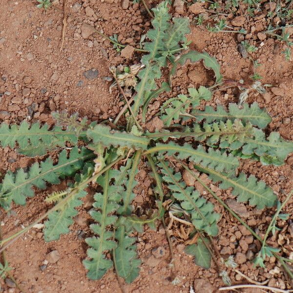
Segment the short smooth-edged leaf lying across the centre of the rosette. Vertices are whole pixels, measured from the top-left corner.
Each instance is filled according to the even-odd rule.
[[[135,136],[131,133],[112,130],[108,126],[98,124],[87,130],[87,136],[93,140],[95,144],[103,146],[126,146],[135,149],[146,149],[149,140],[146,137]]]

